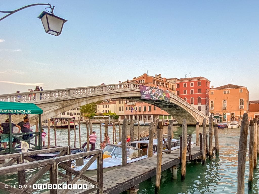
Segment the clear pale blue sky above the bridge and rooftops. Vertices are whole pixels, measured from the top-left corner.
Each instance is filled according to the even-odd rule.
[[[45,33],[44,5],[0,21],[0,94],[114,84],[148,70],[214,87],[233,81],[259,100],[259,1],[1,0],[0,10],[34,3],[68,21],[60,36]]]

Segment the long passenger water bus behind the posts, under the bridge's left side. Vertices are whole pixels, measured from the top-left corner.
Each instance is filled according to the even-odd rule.
[[[61,116],[61,117],[52,117],[50,118],[50,128],[54,128],[54,125],[56,128],[68,128],[68,119],[70,119],[70,128],[74,128],[79,123],[76,122],[75,117],[72,116]],[[54,124],[55,123],[55,124]],[[43,128],[48,128],[48,120],[42,121],[41,125]]]

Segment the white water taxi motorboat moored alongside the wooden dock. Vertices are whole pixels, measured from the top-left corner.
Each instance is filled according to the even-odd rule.
[[[165,139],[167,140],[167,139]],[[130,145],[127,146],[127,164],[135,161],[139,161],[147,158],[148,154],[148,144],[149,140],[140,140],[140,141],[132,141]],[[195,146],[195,143],[192,142],[192,147]],[[171,151],[177,150],[180,148],[180,140],[172,139],[171,141]],[[165,148],[164,150],[167,150]],[[108,171],[116,168],[117,166],[121,166],[122,156],[121,156],[121,145],[115,144],[107,144],[103,149],[103,171]],[[157,154],[157,139],[153,140],[153,155]],[[84,165],[90,158],[84,159]],[[80,171],[84,165],[75,166],[76,162],[72,162],[72,168],[75,171]],[[97,171],[97,159],[90,165],[90,167],[85,171],[85,174],[88,176],[96,175]]]

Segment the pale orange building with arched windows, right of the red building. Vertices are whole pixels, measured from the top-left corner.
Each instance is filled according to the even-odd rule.
[[[244,86],[211,86],[209,100],[210,114],[219,122],[236,121],[249,110],[249,91]]]

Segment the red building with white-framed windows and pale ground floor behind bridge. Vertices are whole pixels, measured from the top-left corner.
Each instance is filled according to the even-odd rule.
[[[210,80],[204,77],[181,78],[175,84],[176,95],[203,114],[209,115]]]

